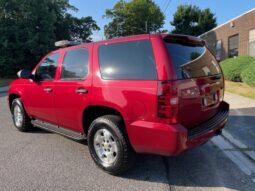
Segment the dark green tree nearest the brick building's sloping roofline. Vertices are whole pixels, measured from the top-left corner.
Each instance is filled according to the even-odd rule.
[[[217,26],[216,17],[210,9],[201,10],[194,5],[180,5],[174,14],[172,33],[198,36]]]

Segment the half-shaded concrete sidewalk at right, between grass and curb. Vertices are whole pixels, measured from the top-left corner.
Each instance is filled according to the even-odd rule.
[[[255,100],[226,92],[230,116],[223,137],[255,160]]]

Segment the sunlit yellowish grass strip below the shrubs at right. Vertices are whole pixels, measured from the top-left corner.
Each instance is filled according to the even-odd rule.
[[[255,99],[255,87],[245,83],[225,81],[226,91]]]

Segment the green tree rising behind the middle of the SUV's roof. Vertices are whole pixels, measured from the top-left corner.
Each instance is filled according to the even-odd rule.
[[[104,16],[111,19],[104,27],[106,38],[155,33],[163,27],[165,19],[152,0],[119,0]]]

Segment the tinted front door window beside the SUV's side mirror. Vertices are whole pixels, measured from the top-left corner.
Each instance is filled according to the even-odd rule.
[[[36,69],[36,78],[43,80],[53,80],[56,73],[59,53],[52,54],[45,58]]]

